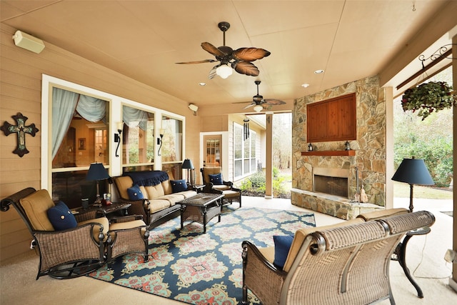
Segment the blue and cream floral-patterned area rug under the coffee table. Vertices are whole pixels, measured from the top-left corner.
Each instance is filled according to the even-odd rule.
[[[194,222],[181,230],[176,217],[151,230],[149,261],[122,256],[89,276],[188,304],[241,304],[241,242],[273,246],[273,235],[310,226],[316,226],[312,213],[224,206],[221,222],[212,219],[206,234]],[[260,304],[253,294],[248,297],[250,304]]]

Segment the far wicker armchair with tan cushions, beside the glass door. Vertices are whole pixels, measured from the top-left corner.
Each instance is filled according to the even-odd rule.
[[[203,189],[205,193],[224,194],[223,200],[225,204],[232,204],[233,201],[237,201],[240,204],[241,208],[241,189],[236,189],[233,187],[232,181],[222,180],[221,184],[214,184],[211,182],[211,177],[209,175],[222,175],[221,166],[202,167],[200,171],[203,178],[203,184],[205,185]]]

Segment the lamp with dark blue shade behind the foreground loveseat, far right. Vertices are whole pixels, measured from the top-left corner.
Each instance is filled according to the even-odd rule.
[[[427,166],[423,159],[403,159],[397,171],[392,177],[394,181],[406,182],[409,184],[409,211],[413,211],[413,185],[433,185]]]

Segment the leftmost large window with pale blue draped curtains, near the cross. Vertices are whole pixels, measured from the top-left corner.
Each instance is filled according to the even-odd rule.
[[[94,183],[86,181],[86,174],[91,163],[109,166],[108,114],[109,101],[52,88],[53,199],[70,207],[80,206],[83,196],[94,200]]]

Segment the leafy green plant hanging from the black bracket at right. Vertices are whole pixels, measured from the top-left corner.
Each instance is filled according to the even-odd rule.
[[[417,115],[422,116],[422,121],[433,111],[451,108],[456,103],[456,92],[444,81],[430,81],[408,89],[401,99],[403,111],[419,111]]]

